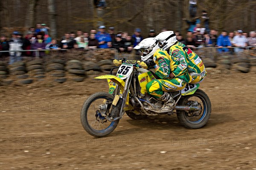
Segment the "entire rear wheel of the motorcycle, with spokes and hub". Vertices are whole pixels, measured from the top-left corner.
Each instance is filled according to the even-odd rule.
[[[194,94],[184,96],[179,105],[197,106],[201,111],[180,111],[177,117],[189,129],[198,129],[207,124],[211,115],[211,101],[204,91],[198,89]]]

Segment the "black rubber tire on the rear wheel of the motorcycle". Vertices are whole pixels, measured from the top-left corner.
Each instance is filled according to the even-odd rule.
[[[184,96],[183,98],[181,98],[179,105],[187,105],[187,101],[191,97],[198,97],[199,99],[201,99],[201,102],[203,104],[202,105],[203,111],[201,112],[201,114],[198,116],[193,116],[193,118],[199,117],[199,120],[196,120],[196,121],[189,120],[187,111],[177,112],[177,118],[179,119],[180,123],[183,126],[185,126],[186,128],[198,129],[198,128],[204,127],[204,125],[207,124],[207,122],[211,116],[211,110],[212,110],[211,101],[210,101],[209,97],[207,96],[207,94],[204,93],[204,91],[198,89],[194,94],[187,95],[187,96]],[[199,102],[199,101],[197,100],[197,102]]]

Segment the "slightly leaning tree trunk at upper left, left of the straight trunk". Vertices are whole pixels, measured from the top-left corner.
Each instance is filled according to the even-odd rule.
[[[35,13],[36,13],[37,0],[29,0],[29,8],[26,12],[25,27],[30,28],[35,26]]]

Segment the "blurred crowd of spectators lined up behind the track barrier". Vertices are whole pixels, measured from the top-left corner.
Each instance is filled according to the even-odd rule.
[[[220,34],[216,29],[209,29],[209,17],[207,11],[202,11],[201,17],[195,17],[195,1],[191,4],[190,12],[191,20],[183,19],[188,24],[186,35],[183,36],[179,31],[175,31],[177,40],[187,45],[189,48],[195,49],[200,47],[218,47],[218,52],[241,52],[246,46],[256,46],[256,32],[250,31],[249,34],[238,31],[221,31]],[[163,28],[160,32],[167,31]],[[31,27],[23,36],[19,31],[14,31],[12,37],[8,40],[7,35],[1,35],[0,50],[10,51],[1,52],[0,59],[9,57],[9,64],[20,61],[21,56],[38,56],[43,57],[45,51],[60,49],[75,50],[93,50],[97,48],[115,48],[119,53],[131,53],[133,48],[143,40],[140,28],[135,28],[134,33],[130,35],[128,32],[115,31],[114,27],[99,26],[98,30],[92,28],[89,32],[77,30],[75,32],[67,32],[58,41],[49,36],[50,28],[46,24],[36,24]],[[219,34],[219,35],[218,35]],[[154,29],[148,31],[148,37],[155,37],[157,34]],[[234,50],[230,50],[230,47]],[[19,50],[38,50],[24,51]],[[136,51],[136,54],[140,54]]]

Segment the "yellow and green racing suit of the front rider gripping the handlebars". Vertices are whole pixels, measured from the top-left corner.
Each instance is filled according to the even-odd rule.
[[[159,98],[163,95],[163,91],[180,91],[186,83],[192,81],[192,77],[186,68],[180,65],[187,65],[185,59],[177,59],[174,56],[170,56],[167,51],[158,49],[153,55],[155,65],[155,74],[161,79],[154,79],[148,82],[146,90],[148,94]],[[170,78],[170,73],[175,75],[174,78]]]

